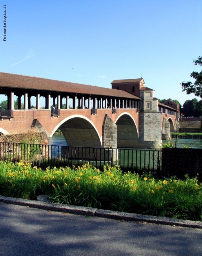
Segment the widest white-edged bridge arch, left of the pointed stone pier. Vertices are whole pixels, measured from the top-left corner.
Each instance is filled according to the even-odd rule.
[[[87,117],[83,115],[71,115],[57,124],[50,137],[60,128],[68,146],[77,147],[102,147],[102,137]]]

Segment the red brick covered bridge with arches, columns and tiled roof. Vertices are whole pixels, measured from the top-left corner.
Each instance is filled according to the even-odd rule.
[[[0,110],[0,141],[50,143],[60,128],[69,146],[160,147],[175,130],[178,105],[159,103],[142,78],[111,85],[107,89],[0,72],[0,94],[7,96],[7,109]],[[40,108],[41,97],[45,109]]]

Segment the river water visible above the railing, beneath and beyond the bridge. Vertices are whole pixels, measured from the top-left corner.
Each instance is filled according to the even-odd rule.
[[[174,142],[174,140],[172,140]],[[201,139],[184,139],[179,138],[177,141],[177,147],[182,147],[182,145],[190,146],[191,148],[202,148]],[[163,141],[166,143],[166,141]],[[60,145],[60,146],[67,146],[66,140],[63,134],[55,133],[51,138],[51,145]]]

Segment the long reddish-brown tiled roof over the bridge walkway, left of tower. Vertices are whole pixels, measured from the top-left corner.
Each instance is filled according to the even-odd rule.
[[[36,91],[53,91],[63,93],[80,93],[87,95],[113,96],[118,98],[131,98],[141,100],[141,98],[127,93],[126,91],[86,85],[81,83],[71,83],[35,76],[24,76],[0,72],[0,87],[29,89]]]

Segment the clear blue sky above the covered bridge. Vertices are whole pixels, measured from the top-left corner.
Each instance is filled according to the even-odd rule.
[[[7,17],[6,41],[3,18],[0,26],[1,72],[107,88],[142,74],[159,99],[196,98],[180,83],[200,70],[193,59],[202,56],[201,0],[0,3]]]

